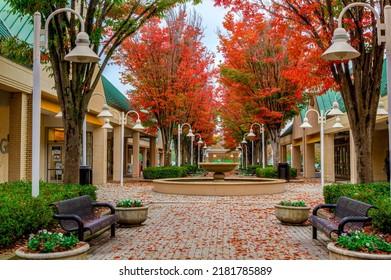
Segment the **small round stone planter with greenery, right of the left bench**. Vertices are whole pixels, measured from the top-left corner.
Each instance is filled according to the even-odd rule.
[[[141,225],[148,217],[148,208],[140,200],[119,200],[115,207],[118,223],[124,226]]]

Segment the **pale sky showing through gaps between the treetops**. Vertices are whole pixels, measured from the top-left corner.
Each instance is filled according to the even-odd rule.
[[[225,10],[221,7],[214,7],[213,0],[203,0],[201,4],[193,6],[195,11],[202,18],[202,25],[204,26],[204,38],[202,42],[211,52],[216,53],[215,63],[219,63],[222,60],[221,54],[217,53],[217,45],[219,39],[217,37],[217,30],[222,29],[222,22],[225,15]],[[189,6],[189,8],[191,8]],[[121,83],[121,68],[117,65],[106,66],[103,75],[116,86],[123,94],[126,90],[130,89],[130,86],[123,85]]]

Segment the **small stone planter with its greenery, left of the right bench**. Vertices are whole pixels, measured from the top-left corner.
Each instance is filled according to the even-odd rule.
[[[309,218],[308,207],[303,201],[280,201],[279,204],[274,205],[274,213],[276,218],[282,223],[287,224],[302,224]]]

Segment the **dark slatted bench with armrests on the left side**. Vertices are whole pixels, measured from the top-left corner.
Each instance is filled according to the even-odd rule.
[[[84,240],[84,232],[95,234],[103,229],[111,228],[111,236],[115,236],[115,223],[118,217],[115,208],[109,203],[94,203],[90,196],[83,195],[50,204],[56,208],[53,218],[59,220],[60,226],[70,232],[77,231],[80,241]],[[96,207],[108,207],[110,214],[99,216]]]

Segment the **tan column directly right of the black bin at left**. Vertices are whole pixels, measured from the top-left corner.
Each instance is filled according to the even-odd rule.
[[[94,127],[92,135],[92,183],[102,185],[107,183],[107,129]]]

